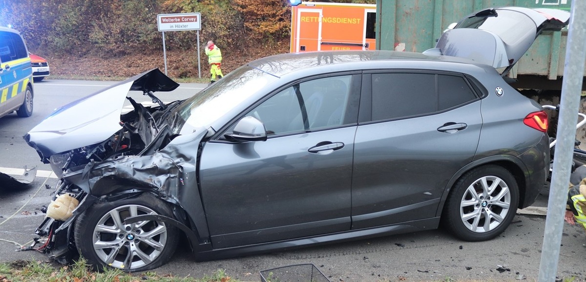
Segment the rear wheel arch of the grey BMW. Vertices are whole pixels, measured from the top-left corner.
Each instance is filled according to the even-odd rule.
[[[499,167],[507,169],[515,178],[517,182],[517,186],[519,187],[519,206],[518,208],[524,208],[522,203],[525,202],[526,197],[526,190],[527,190],[527,177],[529,177],[529,171],[527,167],[523,164],[523,162],[512,155],[493,155],[490,157],[478,159],[476,161],[471,162],[470,164],[466,165],[464,168],[460,169],[452,178],[448,181],[446,185],[446,189],[444,189],[444,193],[441,196],[440,205],[438,205],[438,210],[435,213],[435,216],[441,216],[444,210],[445,202],[448,199],[449,193],[452,192],[452,188],[454,185],[466,172],[471,171],[472,169],[482,167],[483,165],[498,165]]]

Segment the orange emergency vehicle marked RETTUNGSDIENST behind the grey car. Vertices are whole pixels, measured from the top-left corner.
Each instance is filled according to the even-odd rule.
[[[291,52],[374,50],[376,5],[302,2],[291,7]]]

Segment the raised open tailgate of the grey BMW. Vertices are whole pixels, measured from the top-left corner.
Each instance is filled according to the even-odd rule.
[[[503,7],[483,9],[442,34],[436,48],[496,68],[513,66],[544,30],[561,30],[570,13],[556,9]],[[473,40],[471,40],[473,38]]]

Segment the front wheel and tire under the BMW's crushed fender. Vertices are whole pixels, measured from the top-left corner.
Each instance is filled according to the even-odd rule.
[[[175,252],[178,230],[155,221],[124,225],[124,219],[130,216],[148,214],[173,217],[169,204],[149,193],[94,204],[77,219],[77,250],[97,270],[110,266],[145,271],[161,266]]]

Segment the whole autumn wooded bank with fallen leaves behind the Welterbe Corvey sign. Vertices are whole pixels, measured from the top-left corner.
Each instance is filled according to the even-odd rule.
[[[52,74],[128,77],[163,69],[163,35],[156,16],[192,12],[202,16],[202,77],[209,75],[203,53],[207,40],[222,48],[224,73],[289,50],[288,0],[4,0],[0,26],[18,29],[31,52],[50,60]],[[197,32],[165,32],[165,42],[169,75],[196,76]]]

